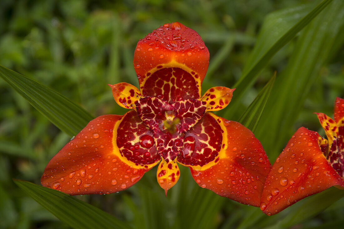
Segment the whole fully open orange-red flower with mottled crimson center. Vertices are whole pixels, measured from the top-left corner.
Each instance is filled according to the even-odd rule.
[[[200,35],[178,22],[141,39],[133,59],[139,88],[109,84],[130,111],[90,121],[51,159],[42,185],[71,195],[113,193],[159,164],[166,194],[180,164],[199,186],[259,206],[271,164],[249,129],[212,113],[228,105],[234,89],[214,87],[201,96],[208,63]]]

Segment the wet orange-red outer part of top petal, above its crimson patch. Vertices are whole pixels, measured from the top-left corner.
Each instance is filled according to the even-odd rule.
[[[181,68],[190,73],[200,87],[208,69],[209,51],[197,32],[174,22],[160,26],[141,39],[133,63],[140,90],[148,77],[162,68]]]

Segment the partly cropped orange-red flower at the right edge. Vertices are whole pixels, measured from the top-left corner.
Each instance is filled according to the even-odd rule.
[[[265,214],[331,186],[344,187],[344,99],[336,99],[334,120],[316,115],[327,139],[304,127],[295,132],[267,176],[260,205]]]

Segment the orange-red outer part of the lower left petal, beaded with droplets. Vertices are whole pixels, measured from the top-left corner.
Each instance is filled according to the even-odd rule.
[[[121,155],[116,130],[122,118],[103,115],[90,121],[50,160],[42,185],[82,195],[113,193],[139,181],[158,161],[142,166]]]

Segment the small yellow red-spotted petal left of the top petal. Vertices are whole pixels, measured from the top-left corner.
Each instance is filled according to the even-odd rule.
[[[108,85],[112,89],[112,95],[118,105],[127,109],[136,108],[135,102],[141,98],[139,89],[125,82]]]

